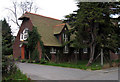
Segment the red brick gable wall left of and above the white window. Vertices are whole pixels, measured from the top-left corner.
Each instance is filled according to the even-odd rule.
[[[31,22],[31,20],[23,20],[22,24],[21,24],[21,27],[20,27],[20,30],[17,34],[17,37],[14,41],[14,44],[13,44],[13,57],[14,58],[18,58],[19,56],[21,56],[21,52],[20,52],[20,33],[23,32],[23,30],[25,28],[28,28],[29,30],[32,30],[32,27],[33,27],[33,24]]]

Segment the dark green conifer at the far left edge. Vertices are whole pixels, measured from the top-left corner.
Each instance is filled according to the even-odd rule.
[[[2,55],[12,54],[12,38],[9,24],[4,19],[2,21]]]

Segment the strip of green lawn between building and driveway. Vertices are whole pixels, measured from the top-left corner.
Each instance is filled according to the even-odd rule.
[[[28,63],[29,60],[27,61]],[[118,62],[118,61],[114,61],[114,62]],[[112,63],[114,63],[112,62]],[[35,62],[32,62],[35,63]],[[75,62],[63,62],[63,63],[56,63],[56,62],[47,62],[47,61],[41,61],[39,63],[35,63],[35,64],[41,64],[41,65],[50,65],[50,66],[59,66],[59,67],[68,67],[68,68],[77,68],[77,69],[83,69],[83,70],[100,70],[100,69],[105,69],[105,68],[109,68],[109,63],[104,61],[104,66],[101,66],[100,64],[100,60],[95,61],[91,66],[86,66],[88,63],[88,60],[81,60],[78,61],[77,63]],[[107,67],[106,67],[107,66]]]

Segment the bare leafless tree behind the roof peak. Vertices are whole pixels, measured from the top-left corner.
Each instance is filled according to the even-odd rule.
[[[37,12],[38,7],[34,4],[33,1],[21,1],[20,3],[18,2],[13,2],[13,9],[12,8],[6,8],[8,9],[14,17],[12,17],[10,20],[15,23],[17,26],[20,27],[20,24],[18,22],[18,16],[19,14],[24,14],[26,11],[27,12]]]

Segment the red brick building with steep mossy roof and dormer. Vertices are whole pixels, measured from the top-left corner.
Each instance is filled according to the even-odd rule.
[[[58,53],[66,56],[64,57],[65,60],[78,58],[79,50],[74,49],[72,44],[65,45],[70,39],[74,38],[74,35],[69,36],[67,34],[67,31],[71,29],[68,24],[58,19],[29,12],[21,16],[19,20],[22,20],[22,24],[13,44],[14,58],[29,59],[29,53],[25,51],[25,45],[23,43],[27,43],[28,31],[31,31],[33,26],[37,27],[44,48],[49,50],[47,54],[51,55],[50,59],[52,61],[56,61],[56,54]],[[41,59],[42,49],[40,44],[37,46],[39,58]],[[85,50],[85,53],[87,53],[87,50]]]

